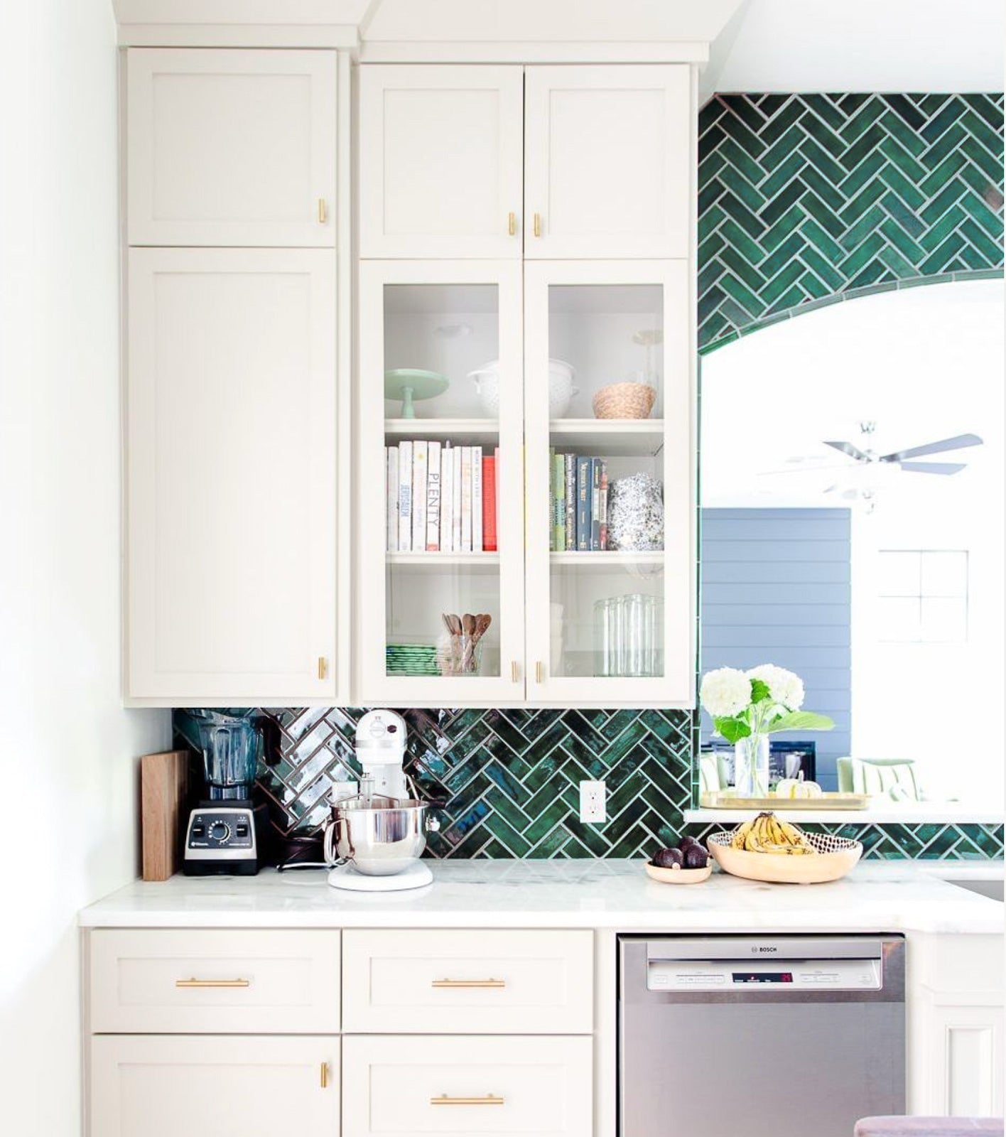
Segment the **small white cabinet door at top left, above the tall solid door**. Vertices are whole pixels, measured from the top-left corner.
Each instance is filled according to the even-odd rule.
[[[130,244],[335,243],[334,51],[133,48]]]

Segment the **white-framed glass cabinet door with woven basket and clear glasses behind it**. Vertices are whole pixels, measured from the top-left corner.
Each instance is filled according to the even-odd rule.
[[[691,706],[688,263],[524,268],[527,699]]]

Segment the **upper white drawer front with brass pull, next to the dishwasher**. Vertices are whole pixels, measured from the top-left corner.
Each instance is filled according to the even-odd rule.
[[[589,1034],[590,931],[347,931],[347,1032]]]

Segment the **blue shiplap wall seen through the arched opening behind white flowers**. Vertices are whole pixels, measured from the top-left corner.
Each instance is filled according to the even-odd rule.
[[[848,509],[701,512],[701,669],[795,671],[805,706],[835,722],[803,736],[817,744],[825,789],[837,788],[834,760],[849,753],[851,729],[849,530]]]

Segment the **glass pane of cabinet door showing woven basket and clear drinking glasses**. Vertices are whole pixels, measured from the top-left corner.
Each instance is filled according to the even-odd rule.
[[[550,671],[660,677],[663,288],[549,288]]]

